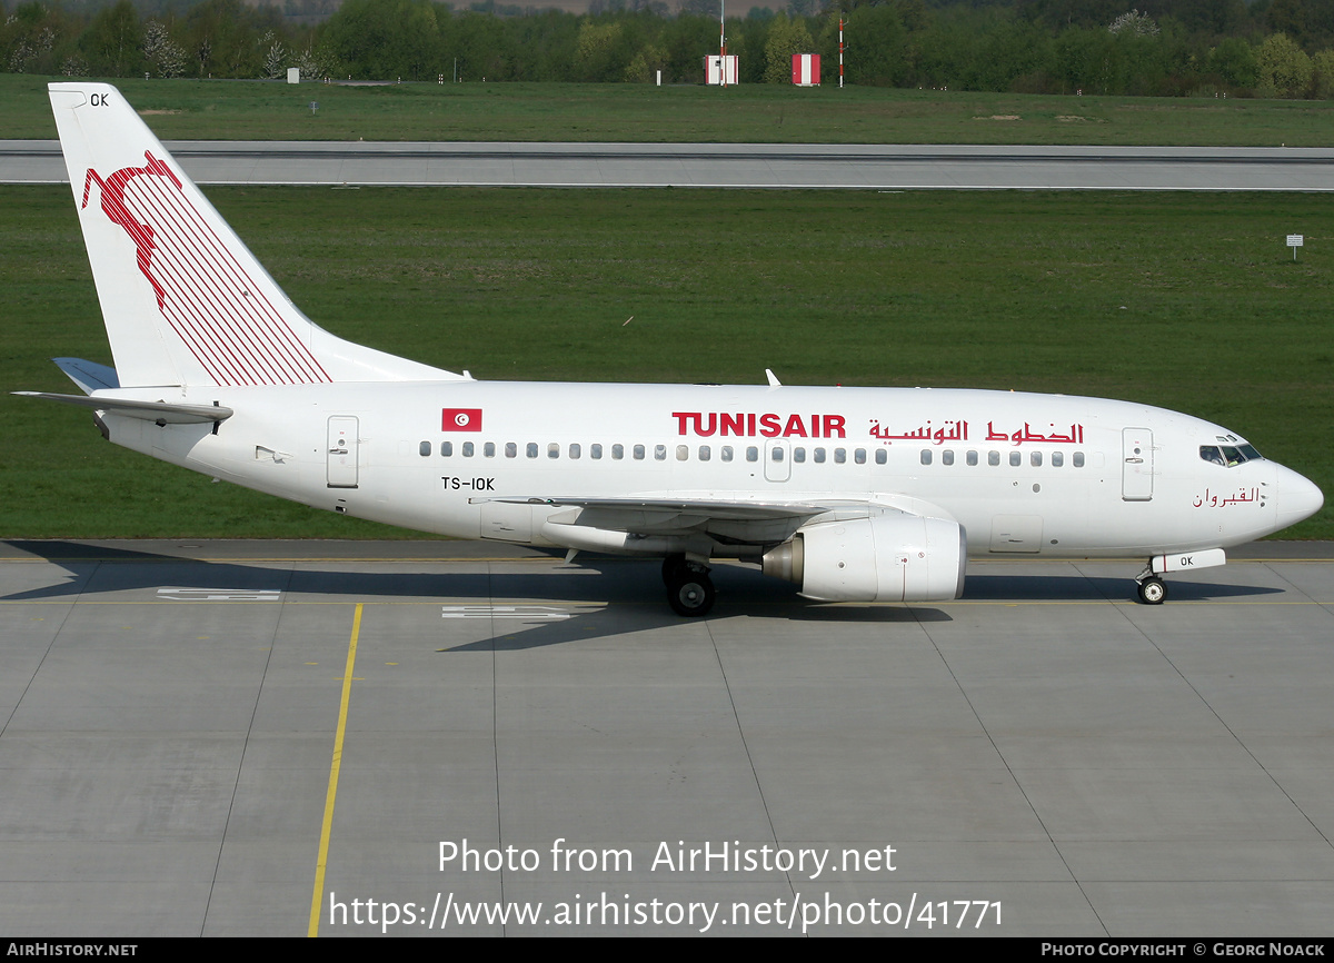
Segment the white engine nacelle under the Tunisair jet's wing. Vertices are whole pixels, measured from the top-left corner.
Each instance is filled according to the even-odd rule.
[[[887,511],[819,522],[764,555],[764,574],[820,602],[946,602],[963,595],[967,536],[956,522]]]

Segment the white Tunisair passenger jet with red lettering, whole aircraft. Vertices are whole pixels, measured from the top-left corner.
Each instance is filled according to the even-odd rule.
[[[115,367],[56,364],[116,444],[316,508],[463,539],[663,559],[706,615],[715,559],[822,602],[944,602],[968,555],[1163,575],[1319,511],[1227,428],[999,391],[482,381],[346,341],[292,304],[120,92],[52,109]]]

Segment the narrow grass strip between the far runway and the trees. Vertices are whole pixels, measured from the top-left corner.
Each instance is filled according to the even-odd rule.
[[[55,77],[60,80],[60,77]],[[48,77],[0,75],[0,139],[53,139]],[[827,85],[115,81],[164,140],[1329,147],[1334,101]],[[308,108],[319,103],[319,111]]]

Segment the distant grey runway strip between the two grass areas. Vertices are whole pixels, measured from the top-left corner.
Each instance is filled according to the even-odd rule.
[[[1330,148],[169,141],[201,184],[1334,191]],[[57,141],[0,141],[0,183],[65,183]]]

